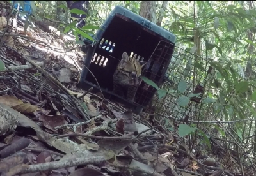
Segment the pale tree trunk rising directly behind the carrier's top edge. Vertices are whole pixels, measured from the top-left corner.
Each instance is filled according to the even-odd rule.
[[[140,16],[156,23],[156,1],[141,1]]]

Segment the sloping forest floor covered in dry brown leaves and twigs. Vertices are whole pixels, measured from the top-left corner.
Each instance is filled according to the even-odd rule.
[[[1,175],[240,175],[220,144],[189,149],[177,128],[77,88],[83,52],[66,47],[74,39],[0,6]]]

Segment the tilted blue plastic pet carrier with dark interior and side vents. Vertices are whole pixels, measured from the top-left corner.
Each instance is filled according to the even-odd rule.
[[[129,103],[112,92],[116,66],[123,52],[131,57],[136,55],[136,59],[140,57],[147,62],[141,75],[160,85],[173,54],[175,35],[122,6],[116,6],[93,38],[97,42],[86,48],[85,66],[92,71],[105,98],[122,103],[139,114],[157,90],[141,82],[134,103]],[[99,92],[95,78],[86,67],[78,86],[84,90],[93,87],[93,91],[98,89]]]

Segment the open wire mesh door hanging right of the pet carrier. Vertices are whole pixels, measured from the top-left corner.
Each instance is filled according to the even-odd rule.
[[[163,49],[173,48],[171,45],[160,41],[150,58],[150,61],[157,58],[154,59],[157,62],[149,69],[151,75],[146,77],[156,82],[159,91],[147,106],[147,111],[152,112],[154,109],[154,113],[160,117],[187,121],[189,117],[195,117],[205,92],[210,91],[209,85],[214,81],[215,70],[207,59],[193,54],[195,47],[189,50],[175,47],[173,54]],[[164,71],[161,78],[154,77],[156,70]]]

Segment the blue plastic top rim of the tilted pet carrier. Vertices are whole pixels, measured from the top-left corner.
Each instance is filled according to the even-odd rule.
[[[163,27],[157,26],[156,24],[141,17],[140,15],[136,15],[135,13],[128,10],[127,8],[124,8],[123,6],[116,6],[114,10],[111,11],[111,13],[108,15],[108,18],[105,20],[104,24],[102,24],[101,29],[97,31],[95,35],[95,40],[98,40],[98,41],[100,40],[102,34],[104,33],[104,30],[108,27],[112,18],[116,15],[116,13],[119,13],[120,15],[124,15],[125,17],[133,20],[134,22],[141,24],[141,26],[147,27],[147,29],[153,31],[154,33],[159,34],[163,38],[166,38],[166,40],[170,41],[171,43],[175,43],[176,41],[176,36],[170,31],[167,31]]]

